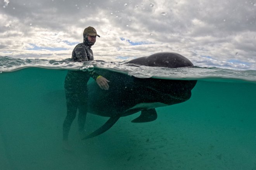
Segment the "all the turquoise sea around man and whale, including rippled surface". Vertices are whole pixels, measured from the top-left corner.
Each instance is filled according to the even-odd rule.
[[[189,100],[157,107],[152,122],[132,123],[136,113],[121,117],[95,138],[81,140],[76,118],[69,133],[74,151],[63,151],[67,70],[95,67],[138,78],[198,81]],[[255,97],[253,70],[0,57],[0,169],[256,170]],[[86,131],[107,119],[88,114]]]

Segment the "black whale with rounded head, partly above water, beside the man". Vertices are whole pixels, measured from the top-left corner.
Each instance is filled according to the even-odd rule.
[[[194,66],[178,53],[161,52],[125,61],[131,66],[179,68]],[[109,90],[102,90],[95,81],[88,83],[88,112],[109,117],[107,122],[82,139],[98,136],[109,130],[120,117],[140,112],[133,123],[151,122],[157,119],[157,107],[185,102],[197,80],[169,80],[161,78],[137,78],[111,70],[94,69],[109,80]]]

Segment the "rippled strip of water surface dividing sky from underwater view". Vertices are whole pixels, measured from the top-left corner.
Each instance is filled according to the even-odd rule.
[[[135,64],[126,64],[123,62],[106,62],[102,60],[94,60],[87,62],[73,62],[71,59],[53,60],[53,59],[22,59],[10,58],[7,56],[0,57],[0,73],[12,72],[25,68],[45,68],[56,70],[89,70],[94,68],[107,69],[116,71],[138,78],[162,78],[162,79],[178,79],[178,80],[243,80],[256,82],[256,70],[230,70],[216,67],[181,67],[181,68],[165,68],[150,67]]]

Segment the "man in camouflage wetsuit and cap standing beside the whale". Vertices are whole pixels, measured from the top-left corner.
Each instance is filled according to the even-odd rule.
[[[83,62],[93,60],[93,52],[91,47],[96,42],[96,37],[100,37],[93,27],[87,27],[83,31],[83,42],[77,44],[72,52],[71,59],[73,61]],[[68,144],[68,134],[76,112],[78,110],[78,131],[83,137],[84,126],[87,114],[87,82],[92,77],[96,80],[101,89],[108,90],[108,80],[95,71],[68,71],[64,87],[67,100],[67,116],[63,123],[63,148],[71,150]]]

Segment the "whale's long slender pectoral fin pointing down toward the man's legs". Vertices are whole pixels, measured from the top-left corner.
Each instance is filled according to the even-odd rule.
[[[109,120],[104,125],[102,125],[99,129],[97,129],[93,133],[89,134],[88,136],[85,136],[85,138],[82,138],[82,140],[93,138],[95,136],[98,136],[98,135],[106,132],[118,121],[119,118],[120,117],[110,117]]]

